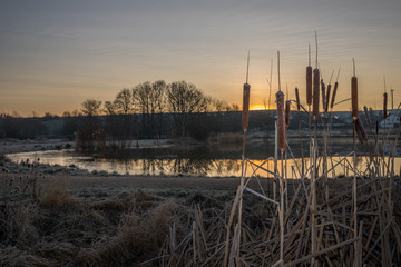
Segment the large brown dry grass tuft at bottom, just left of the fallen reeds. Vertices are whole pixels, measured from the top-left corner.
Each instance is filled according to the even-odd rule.
[[[169,226],[179,221],[174,209],[173,201],[165,201],[144,215],[138,215],[135,210],[124,215],[116,236],[100,238],[89,248],[80,250],[78,264],[124,265],[127,260],[137,261],[155,256],[168,234]]]

